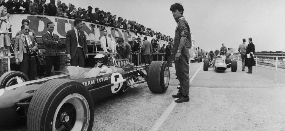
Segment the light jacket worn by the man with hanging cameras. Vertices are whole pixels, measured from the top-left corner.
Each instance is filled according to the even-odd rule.
[[[33,36],[28,35],[28,40],[29,42],[32,42],[33,49],[38,49],[38,45],[34,41]],[[18,58],[19,62],[22,62],[23,55],[24,55],[24,49],[25,49],[25,39],[23,38],[22,34],[15,37],[14,49],[15,49],[15,59]]]

